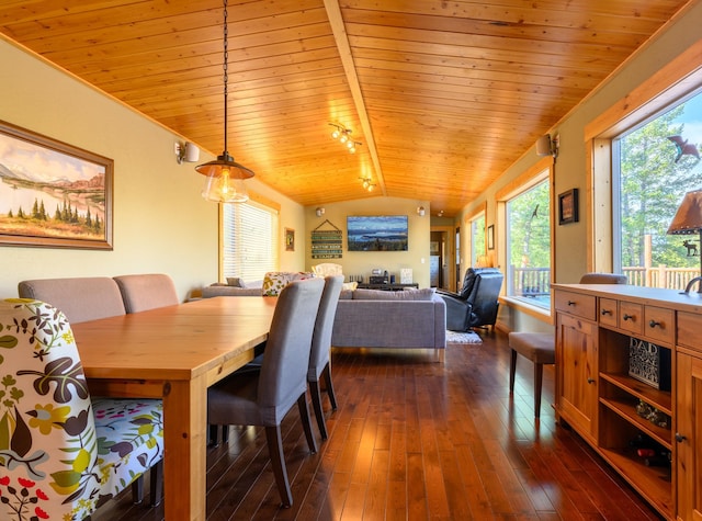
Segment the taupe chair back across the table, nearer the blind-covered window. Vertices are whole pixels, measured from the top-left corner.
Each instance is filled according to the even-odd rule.
[[[157,307],[179,304],[173,280],[163,273],[145,273],[115,276],[124,308],[127,313],[139,313]]]

